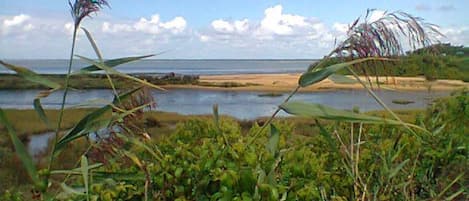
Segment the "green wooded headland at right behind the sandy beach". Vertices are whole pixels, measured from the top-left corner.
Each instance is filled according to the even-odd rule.
[[[328,66],[339,63],[338,58],[324,61]],[[312,64],[310,68],[317,64]],[[457,79],[469,82],[469,47],[438,44],[421,48],[396,62],[369,62],[357,71],[361,75],[425,76],[429,80]],[[340,74],[349,74],[342,70]]]

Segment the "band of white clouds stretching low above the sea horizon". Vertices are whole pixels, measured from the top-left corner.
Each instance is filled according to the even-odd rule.
[[[261,13],[262,14],[262,13]],[[328,24],[311,16],[268,7],[260,19],[214,18],[205,27],[191,28],[183,16],[158,14],[121,20],[96,16],[82,24],[94,36],[105,57],[157,53],[158,58],[320,58],[334,41],[342,41],[348,24]],[[377,20],[384,11],[370,13]],[[33,31],[32,31],[33,30]],[[5,58],[66,58],[73,23],[58,16],[0,15],[0,55]],[[442,42],[469,45],[469,27],[442,27]],[[80,40],[81,39],[81,40]],[[77,54],[94,56],[79,32]],[[44,51],[47,50],[47,51]]]

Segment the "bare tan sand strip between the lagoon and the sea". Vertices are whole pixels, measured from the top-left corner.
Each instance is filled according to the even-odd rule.
[[[300,73],[277,73],[277,74],[234,74],[234,75],[201,75],[199,82],[223,85],[232,83],[237,87],[201,86],[201,85],[163,85],[166,89],[198,89],[198,90],[221,90],[221,91],[256,91],[256,92],[290,92],[298,83]],[[351,76],[347,76],[352,78]],[[360,79],[366,81],[361,76]],[[370,78],[373,88],[378,88],[376,78]],[[461,80],[435,80],[426,81],[424,77],[378,77],[379,88],[402,91],[453,91],[461,88],[469,88],[469,83]],[[359,83],[335,83],[331,79],[325,79],[312,86],[301,88],[299,92],[334,91],[334,90],[363,90]]]

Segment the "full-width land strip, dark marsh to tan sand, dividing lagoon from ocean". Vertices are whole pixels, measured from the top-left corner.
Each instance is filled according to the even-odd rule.
[[[1,74],[0,89],[46,89],[36,83],[25,81],[14,74]],[[253,91],[253,92],[291,92],[297,87],[301,73],[262,73],[262,74],[225,74],[225,75],[165,75],[131,74],[145,79],[165,89],[194,89],[215,91]],[[49,79],[61,82],[60,75],[45,75]],[[311,86],[301,88],[299,92],[363,90],[363,86],[346,76],[348,81],[336,83],[330,78]],[[104,75],[81,75],[72,77],[71,86],[77,89],[110,89]],[[454,91],[469,88],[469,82],[461,80],[440,79],[427,81],[424,77],[370,77],[370,82],[363,76],[360,79],[375,89],[401,91]],[[113,77],[116,88],[127,88],[133,81],[121,77]],[[352,81],[352,82],[351,82]],[[354,81],[354,82],[353,82]],[[379,85],[378,85],[379,83]]]

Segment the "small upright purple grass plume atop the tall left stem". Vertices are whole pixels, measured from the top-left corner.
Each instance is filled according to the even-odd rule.
[[[71,8],[70,12],[75,22],[75,27],[78,27],[81,20],[89,17],[91,13],[98,12],[103,6],[109,7],[105,0],[75,0],[75,3],[68,1],[68,4]]]

